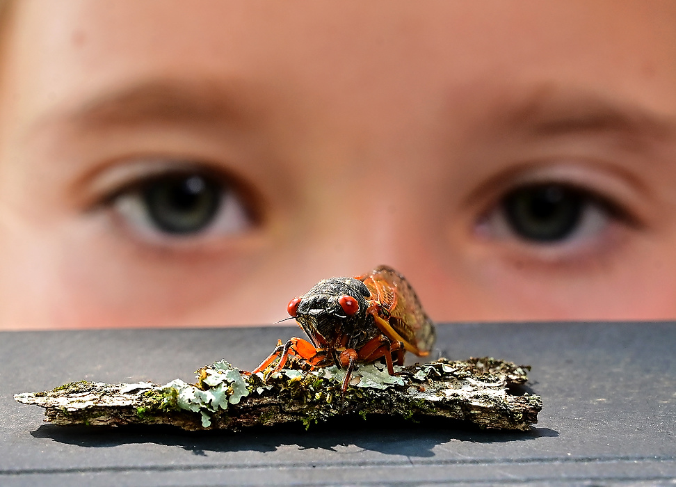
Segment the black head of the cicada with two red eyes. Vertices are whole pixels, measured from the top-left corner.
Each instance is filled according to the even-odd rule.
[[[336,349],[346,346],[360,324],[367,319],[371,296],[364,282],[354,278],[320,281],[306,294],[289,303],[289,314],[315,346]]]

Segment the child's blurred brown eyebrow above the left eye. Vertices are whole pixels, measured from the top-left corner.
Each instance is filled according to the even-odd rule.
[[[67,113],[65,120],[84,129],[186,122],[246,125],[255,107],[244,108],[240,88],[216,81],[147,81],[97,95]]]

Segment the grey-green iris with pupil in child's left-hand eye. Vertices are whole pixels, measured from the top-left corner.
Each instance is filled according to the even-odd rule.
[[[168,175],[156,178],[142,191],[152,221],[172,234],[204,230],[214,220],[223,189],[202,175]]]

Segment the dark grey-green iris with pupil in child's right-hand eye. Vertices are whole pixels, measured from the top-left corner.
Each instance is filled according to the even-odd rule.
[[[525,186],[504,199],[508,223],[522,238],[560,241],[579,225],[585,198],[581,191],[561,184]]]

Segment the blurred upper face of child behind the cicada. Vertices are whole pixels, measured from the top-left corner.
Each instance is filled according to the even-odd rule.
[[[24,1],[0,327],[284,318],[389,264],[437,320],[676,317],[673,1]]]

